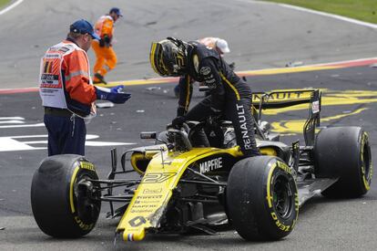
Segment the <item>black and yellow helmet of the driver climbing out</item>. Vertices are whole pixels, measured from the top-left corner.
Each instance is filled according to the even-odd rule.
[[[178,77],[184,75],[187,66],[184,42],[173,37],[153,42],[149,60],[152,68],[160,76]]]

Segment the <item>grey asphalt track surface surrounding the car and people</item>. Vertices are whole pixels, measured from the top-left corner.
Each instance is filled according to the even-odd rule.
[[[192,9],[199,3],[200,8]],[[125,18],[117,26],[115,48],[119,65],[109,80],[155,78],[148,66],[148,48],[151,40],[166,36],[224,37],[232,49],[227,58],[236,62],[238,70],[283,67],[297,60],[310,64],[376,56],[377,34],[371,28],[251,1],[232,1],[231,5],[229,1],[210,5],[201,1],[164,1],[163,4],[113,1],[111,5],[101,2],[96,6],[92,1],[25,1],[0,16],[0,31],[9,34],[6,41],[0,41],[0,89],[36,87],[38,62],[46,47],[65,37],[66,27],[76,18],[94,21],[112,5],[124,9]],[[376,162],[376,70],[367,65],[253,76],[248,77],[248,83],[255,91],[311,87],[324,89],[326,99],[343,97],[337,104],[323,105],[322,126],[363,126],[370,133],[373,162]],[[162,131],[174,117],[177,99],[173,98],[173,87],[174,83],[130,86],[127,90],[132,93],[132,99],[126,105],[99,110],[97,118],[87,127],[88,134],[99,137],[90,140],[93,142],[87,146],[87,158],[97,164],[101,177],[108,173],[109,149],[115,142],[146,145],[149,141],[139,140],[139,131]],[[201,98],[201,93],[194,93],[193,103]],[[266,120],[272,123],[306,116],[306,111],[295,110],[268,115]],[[37,92],[0,95],[0,117],[7,117],[0,124],[2,142],[12,138],[21,143],[17,147],[26,148],[5,151],[11,144],[0,145],[3,149],[0,151],[0,229],[5,228],[0,230],[1,250],[365,250],[377,245],[374,237],[376,178],[372,180],[371,191],[360,199],[314,198],[301,208],[295,230],[279,242],[247,243],[234,230],[227,230],[215,236],[147,235],[143,242],[119,242],[113,246],[117,221],[107,221],[103,215],[95,230],[84,238],[53,239],[36,226],[29,199],[32,175],[46,157],[46,149],[37,149],[46,148],[46,130],[37,126],[43,118]],[[30,127],[15,127],[20,125]],[[298,137],[282,139],[291,141]],[[104,145],[104,141],[112,143]],[[93,146],[96,144],[102,146]],[[130,147],[118,145],[117,150],[122,152]],[[104,205],[103,213],[106,210]]]

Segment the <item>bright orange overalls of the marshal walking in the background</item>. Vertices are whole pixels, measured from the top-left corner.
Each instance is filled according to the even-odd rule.
[[[96,26],[95,32],[101,39],[105,36],[111,39],[113,38],[114,33],[114,20],[111,16],[101,16],[99,17]],[[94,73],[98,73],[102,77],[107,74],[107,71],[113,69],[117,65],[117,55],[111,46],[111,42],[108,46],[100,47],[99,41],[94,39],[92,42],[92,48],[96,54],[96,64],[94,66]],[[100,82],[100,79],[93,78],[94,82]]]

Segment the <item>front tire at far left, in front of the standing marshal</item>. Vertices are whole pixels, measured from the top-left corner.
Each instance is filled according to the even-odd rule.
[[[43,160],[33,176],[31,205],[36,224],[54,237],[87,235],[96,225],[101,193],[93,163],[74,154]]]

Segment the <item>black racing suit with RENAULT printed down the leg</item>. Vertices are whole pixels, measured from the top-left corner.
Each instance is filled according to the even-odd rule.
[[[198,42],[189,42],[188,74],[179,78],[177,116],[185,120],[204,120],[221,114],[231,120],[237,143],[245,157],[259,155],[254,137],[254,120],[251,115],[251,89],[241,80],[219,53]],[[193,78],[205,82],[210,95],[189,110]]]

